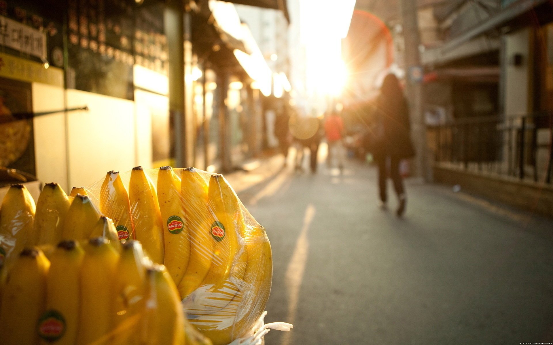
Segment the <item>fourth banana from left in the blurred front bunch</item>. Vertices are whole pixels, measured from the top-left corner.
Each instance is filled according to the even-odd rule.
[[[127,241],[122,245],[121,257],[117,264],[115,279],[115,325],[121,327],[123,322],[144,309],[145,300],[144,252],[138,241]],[[137,342],[138,335],[129,335]],[[134,338],[135,337],[135,338]],[[129,339],[132,342],[132,339]]]

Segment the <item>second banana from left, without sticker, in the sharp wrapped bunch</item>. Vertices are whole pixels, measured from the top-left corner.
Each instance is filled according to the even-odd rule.
[[[158,197],[142,167],[134,167],[131,172],[129,198],[137,240],[153,262],[163,263],[163,226]]]

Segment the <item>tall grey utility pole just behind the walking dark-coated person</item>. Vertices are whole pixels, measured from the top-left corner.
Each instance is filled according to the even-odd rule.
[[[422,68],[420,65],[420,35],[417,0],[400,0],[400,13],[403,22],[405,41],[404,63],[407,79],[407,95],[411,116],[411,132],[415,146],[416,176],[429,180],[427,166],[426,124],[422,113]]]

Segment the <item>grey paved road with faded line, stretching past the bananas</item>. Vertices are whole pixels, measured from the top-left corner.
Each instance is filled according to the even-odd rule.
[[[371,167],[271,162],[229,178],[273,246],[266,320],[294,324],[268,345],[553,342],[553,221],[416,182],[397,219]]]

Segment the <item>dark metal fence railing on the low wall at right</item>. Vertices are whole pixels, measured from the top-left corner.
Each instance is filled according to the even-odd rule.
[[[552,115],[456,119],[427,126],[428,142],[441,166],[551,183]]]

